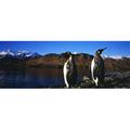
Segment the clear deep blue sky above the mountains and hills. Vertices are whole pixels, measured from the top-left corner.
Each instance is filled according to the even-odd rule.
[[[130,41],[0,41],[0,51],[26,50],[40,54],[66,51],[94,54],[105,47],[104,55],[130,55]]]

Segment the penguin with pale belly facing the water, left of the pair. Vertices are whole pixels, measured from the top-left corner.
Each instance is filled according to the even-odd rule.
[[[67,52],[67,57],[68,60],[63,67],[63,74],[66,88],[72,88],[77,83],[77,66],[74,55],[70,52]]]

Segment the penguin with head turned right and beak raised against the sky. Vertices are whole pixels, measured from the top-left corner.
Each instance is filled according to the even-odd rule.
[[[94,81],[96,87],[101,86],[102,82],[104,81],[105,68],[103,57],[101,56],[104,50],[106,50],[106,48],[99,49],[95,52],[95,56],[91,62],[92,80]]]

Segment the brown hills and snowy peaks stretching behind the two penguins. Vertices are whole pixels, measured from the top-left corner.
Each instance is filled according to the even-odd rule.
[[[49,53],[40,55],[27,51],[13,52],[11,50],[0,52],[0,68],[22,69],[26,67],[56,67],[62,68],[66,62],[65,53]],[[90,72],[90,65],[93,55],[88,53],[75,54],[76,64],[82,73]],[[105,56],[106,72],[128,72],[130,70],[130,57],[110,57]],[[86,70],[86,72],[84,72]]]

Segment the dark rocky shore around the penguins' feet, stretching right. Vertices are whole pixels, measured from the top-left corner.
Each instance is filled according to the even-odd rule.
[[[87,76],[83,77],[75,88],[130,88],[130,72],[126,73],[107,73],[104,83],[101,87],[95,87],[94,82]]]

